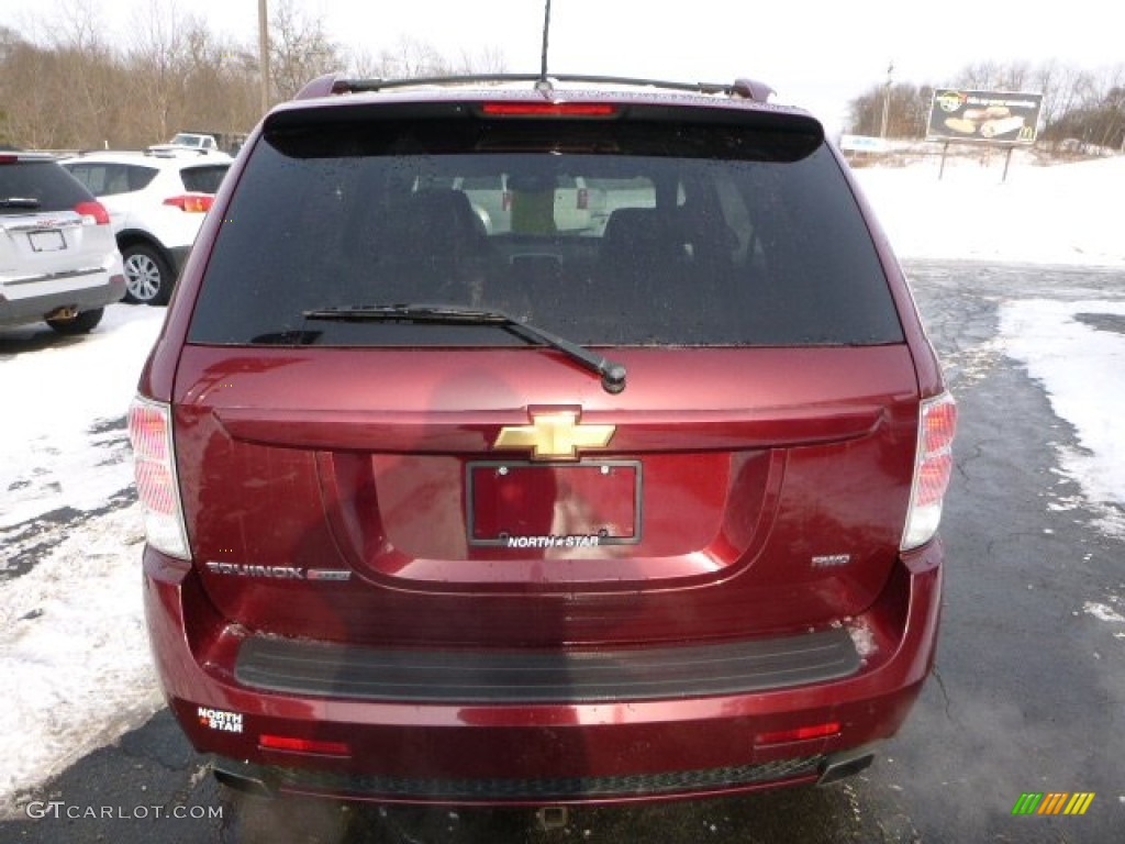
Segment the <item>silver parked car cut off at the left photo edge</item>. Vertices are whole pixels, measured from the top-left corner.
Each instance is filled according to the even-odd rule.
[[[53,156],[0,152],[0,326],[84,334],[124,295],[101,203]]]

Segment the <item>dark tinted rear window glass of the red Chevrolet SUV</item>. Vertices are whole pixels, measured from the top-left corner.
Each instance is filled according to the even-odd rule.
[[[590,345],[901,342],[822,137],[682,120],[369,119],[267,131],[216,239],[199,343],[497,345],[495,326],[309,320],[498,309]]]

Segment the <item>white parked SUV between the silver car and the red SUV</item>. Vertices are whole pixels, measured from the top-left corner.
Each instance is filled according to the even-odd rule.
[[[96,152],[61,163],[109,210],[126,302],[163,305],[231,167],[224,153]]]

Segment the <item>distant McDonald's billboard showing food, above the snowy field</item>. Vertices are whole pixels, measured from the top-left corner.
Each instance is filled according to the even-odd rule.
[[[926,137],[1033,144],[1042,106],[1042,93],[938,88],[934,91]]]

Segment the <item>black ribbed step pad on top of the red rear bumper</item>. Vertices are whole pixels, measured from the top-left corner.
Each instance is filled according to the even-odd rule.
[[[606,650],[378,649],[252,637],[235,677],[297,695],[415,703],[600,703],[740,694],[860,670],[843,628],[734,644]]]

